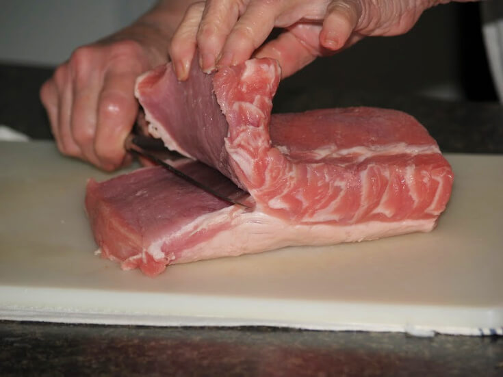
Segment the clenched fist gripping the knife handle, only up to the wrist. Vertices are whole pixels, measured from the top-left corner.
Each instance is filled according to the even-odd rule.
[[[134,40],[75,50],[40,90],[60,151],[104,170],[124,164],[122,144],[138,114],[136,77],[154,64]]]

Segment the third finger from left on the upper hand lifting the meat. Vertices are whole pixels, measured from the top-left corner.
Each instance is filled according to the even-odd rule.
[[[248,60],[266,40],[281,14],[283,1],[254,1],[233,27],[217,66],[231,66]]]

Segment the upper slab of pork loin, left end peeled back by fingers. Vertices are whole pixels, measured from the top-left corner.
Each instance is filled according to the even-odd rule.
[[[270,121],[279,77],[270,59],[213,77],[192,64],[187,83],[164,66],[140,78],[136,94],[153,135],[227,175],[259,211],[309,223],[435,222],[450,197],[452,170],[417,120],[354,107]]]

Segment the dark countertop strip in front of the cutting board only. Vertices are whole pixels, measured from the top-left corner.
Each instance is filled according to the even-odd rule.
[[[6,375],[502,376],[503,339],[0,322]]]

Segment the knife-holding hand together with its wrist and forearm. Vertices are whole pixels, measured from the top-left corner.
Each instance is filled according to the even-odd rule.
[[[136,78],[168,61],[168,44],[194,0],[159,0],[133,25],[79,47],[40,89],[65,155],[114,170],[129,160],[124,141],[138,114]]]

